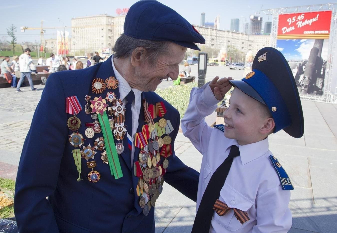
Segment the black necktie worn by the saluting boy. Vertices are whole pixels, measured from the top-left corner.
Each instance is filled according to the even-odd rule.
[[[220,196],[220,190],[225,184],[229,169],[231,169],[233,158],[239,155],[239,147],[233,145],[231,151],[229,151],[228,157],[213,173],[205,189],[203,198],[201,199],[198,212],[196,213],[192,233],[209,232],[214,213],[214,203]]]

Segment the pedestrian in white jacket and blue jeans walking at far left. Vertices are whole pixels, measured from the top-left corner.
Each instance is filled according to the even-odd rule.
[[[19,57],[19,66],[20,66],[20,72],[21,72],[21,77],[17,86],[17,92],[22,92],[20,90],[21,84],[25,81],[25,78],[27,77],[30,88],[32,90],[36,90],[37,88],[34,87],[33,85],[33,80],[32,80],[32,74],[31,70],[29,68],[29,55],[30,55],[31,50],[29,48],[25,49],[25,52],[20,55]]]

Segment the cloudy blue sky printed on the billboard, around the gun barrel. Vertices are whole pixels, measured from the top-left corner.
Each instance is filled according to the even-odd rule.
[[[276,48],[282,52],[287,60],[304,60],[309,58],[310,50],[315,40],[277,40]],[[328,58],[329,40],[324,40],[321,57]]]

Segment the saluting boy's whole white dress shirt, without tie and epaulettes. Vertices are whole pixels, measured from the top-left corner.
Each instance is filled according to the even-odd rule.
[[[181,120],[184,135],[203,155],[196,210],[211,176],[228,156],[231,146],[237,145],[240,156],[233,159],[218,199],[228,207],[247,211],[250,220],[241,225],[233,209],[223,216],[214,211],[210,232],[287,232],[292,225],[288,208],[290,191],[282,190],[272,166],[268,137],[240,146],[237,140],[226,138],[221,130],[209,127],[205,117],[216,109],[218,102],[208,83],[193,88]]]

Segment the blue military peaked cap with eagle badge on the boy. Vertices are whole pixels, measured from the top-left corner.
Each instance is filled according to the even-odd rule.
[[[280,51],[271,47],[259,50],[253,61],[252,72],[242,80],[229,82],[268,106],[275,121],[274,133],[283,129],[292,137],[303,136],[300,96],[292,70]]]

